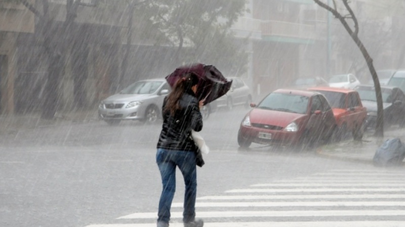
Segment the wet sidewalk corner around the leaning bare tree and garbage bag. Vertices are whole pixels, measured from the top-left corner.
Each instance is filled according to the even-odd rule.
[[[405,142],[405,128],[386,130],[384,131],[384,138],[365,134],[362,141],[350,139],[337,144],[325,145],[318,148],[316,153],[328,158],[373,164],[373,157],[377,149],[384,141],[393,138],[399,138],[402,143]],[[405,166],[405,162],[402,162],[402,165]]]

